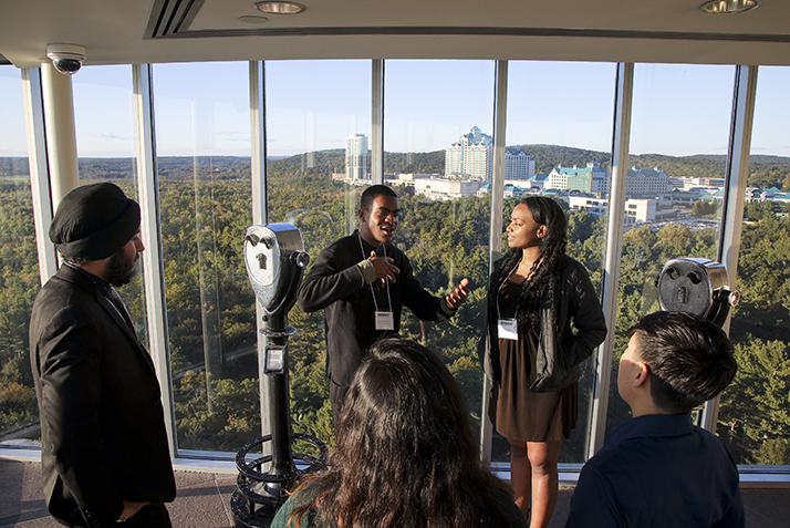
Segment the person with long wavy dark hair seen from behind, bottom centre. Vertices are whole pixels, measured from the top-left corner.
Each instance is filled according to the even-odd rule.
[[[420,344],[378,341],[341,410],[331,468],[273,528],[527,528],[510,488],[480,463],[464,394]]]

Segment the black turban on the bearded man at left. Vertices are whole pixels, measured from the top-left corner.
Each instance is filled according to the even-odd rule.
[[[50,240],[65,258],[101,260],[126,246],[137,229],[139,205],[115,184],[92,184],[63,197]]]

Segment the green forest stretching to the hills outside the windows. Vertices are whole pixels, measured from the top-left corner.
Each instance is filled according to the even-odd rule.
[[[584,151],[563,153],[561,147],[545,147],[541,163],[548,167],[595,159],[585,158]],[[441,168],[444,158],[439,161],[435,154],[388,154],[384,168],[436,172],[433,167]],[[537,154],[534,157],[538,159]],[[644,156],[640,158],[646,162]],[[686,176],[707,174],[708,166],[720,164],[718,176],[711,176],[720,177],[724,167],[724,161],[709,156],[655,159],[665,170],[672,161]],[[773,180],[772,185],[787,189],[790,161],[779,162],[755,162],[750,183],[751,178]],[[158,164],[178,446],[235,452],[261,431],[254,296],[241,257],[243,232],[252,222],[249,159],[160,158]],[[312,261],[356,224],[360,189],[331,179],[332,173],[343,172],[343,165],[342,151],[309,153],[268,164],[268,220],[300,228]],[[6,432],[0,441],[34,437],[24,426],[37,421],[27,332],[40,279],[30,184],[19,166],[0,161],[0,432]],[[135,193],[131,159],[81,159],[80,172],[83,183],[112,179],[127,194]],[[403,186],[397,193],[405,215],[394,241],[410,259],[423,286],[444,294],[462,277],[472,284],[467,302],[449,321],[422,323],[405,311],[402,335],[420,340],[443,354],[479,421],[484,395],[475,341],[485,320],[489,200],[469,197],[429,201]],[[503,225],[517,203],[506,200]],[[561,205],[566,209],[564,203]],[[715,216],[717,209],[700,205],[697,213]],[[569,253],[588,267],[600,288],[605,218],[580,211],[568,211],[568,216]],[[734,310],[730,331],[739,371],[721,396],[718,434],[741,464],[790,464],[788,206],[749,204],[745,217],[736,284],[742,300]],[[661,229],[643,226],[625,234],[613,376],[625,349],[625,331],[641,315],[657,309],[653,280],[663,265],[678,257],[715,259],[717,244],[717,230],[692,231],[680,225]],[[135,315],[141,339],[147,341],[142,280],[123,288],[121,294]],[[298,330],[289,342],[293,428],[333,444],[323,314],[294,308],[289,322]],[[592,370],[588,365],[581,382],[580,426],[563,444],[562,462],[583,462],[582,423],[589,408]],[[627,416],[627,407],[615,391],[610,398],[609,423],[614,425]],[[493,459],[503,457],[505,446],[495,439]]]

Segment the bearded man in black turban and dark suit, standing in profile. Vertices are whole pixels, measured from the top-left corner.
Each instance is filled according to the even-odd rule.
[[[66,526],[171,526],[159,385],[113,289],[135,276],[139,222],[137,203],[103,183],[69,193],[50,226],[64,263],[33,303],[30,359],[46,507]]]

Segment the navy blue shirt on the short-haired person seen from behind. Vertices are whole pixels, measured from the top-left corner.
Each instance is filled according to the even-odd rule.
[[[732,456],[688,414],[620,424],[582,468],[565,528],[744,527]]]

